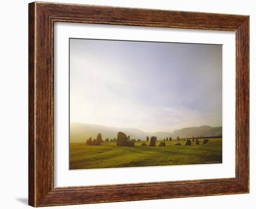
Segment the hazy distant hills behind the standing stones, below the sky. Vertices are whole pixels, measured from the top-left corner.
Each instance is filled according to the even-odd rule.
[[[204,137],[204,136],[222,136],[222,127],[187,127],[171,132],[155,132],[146,133],[137,128],[118,128],[118,127],[105,127],[94,124],[84,124],[78,122],[70,123],[70,142],[84,142],[89,137],[96,138],[98,133],[101,133],[103,139],[114,139],[118,132],[124,132],[130,136],[131,139],[146,140],[147,136],[157,136],[158,139],[166,137],[180,138],[184,137]]]

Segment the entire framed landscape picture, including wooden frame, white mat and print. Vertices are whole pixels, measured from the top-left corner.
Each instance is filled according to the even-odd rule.
[[[29,205],[249,193],[249,16],[29,4]]]

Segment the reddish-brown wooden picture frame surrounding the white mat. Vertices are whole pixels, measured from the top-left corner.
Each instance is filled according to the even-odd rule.
[[[29,205],[249,193],[249,16],[44,2],[30,3],[28,15]],[[54,22],[236,32],[236,177],[54,187]]]

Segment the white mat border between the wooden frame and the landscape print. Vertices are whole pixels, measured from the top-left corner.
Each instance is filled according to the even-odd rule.
[[[69,171],[69,38],[223,44],[223,163]],[[54,186],[125,184],[224,177],[235,177],[235,32],[126,25],[54,23]]]

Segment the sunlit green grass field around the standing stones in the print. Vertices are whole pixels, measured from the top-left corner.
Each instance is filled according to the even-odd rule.
[[[199,139],[202,140],[202,139]],[[148,141],[136,141],[133,147],[104,142],[100,146],[70,143],[70,169],[120,168],[160,165],[193,165],[222,163],[222,138],[209,139],[205,145],[174,146],[177,141],[165,141],[166,146],[141,146]],[[156,141],[156,145],[160,140]]]

